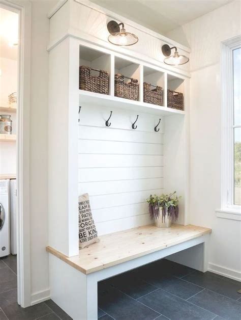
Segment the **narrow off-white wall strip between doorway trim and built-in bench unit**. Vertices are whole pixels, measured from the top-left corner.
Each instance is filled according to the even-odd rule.
[[[32,3],[30,212],[32,301],[48,294],[48,52],[47,12],[55,1]],[[61,66],[60,66],[61,67]],[[43,291],[43,292],[42,292]]]

